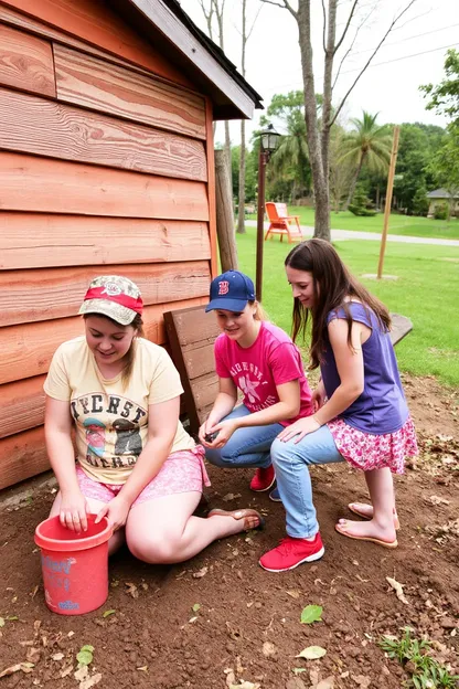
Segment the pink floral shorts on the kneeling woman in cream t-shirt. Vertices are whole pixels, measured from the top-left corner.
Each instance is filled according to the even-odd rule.
[[[83,495],[100,502],[113,500],[124,486],[124,484],[96,481],[89,478],[78,464],[76,478]],[[210,486],[211,481],[204,465],[204,448],[202,445],[196,445],[193,449],[183,449],[169,455],[154,478],[137,496],[132,507],[175,492],[202,492],[203,484]]]

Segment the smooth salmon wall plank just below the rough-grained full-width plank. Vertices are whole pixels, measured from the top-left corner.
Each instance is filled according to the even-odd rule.
[[[206,186],[0,152],[0,210],[209,220]]]

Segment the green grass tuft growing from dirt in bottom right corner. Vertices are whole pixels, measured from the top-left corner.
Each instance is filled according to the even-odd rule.
[[[401,639],[383,636],[378,642],[387,656],[398,660],[404,666],[405,671],[412,675],[410,679],[404,682],[404,686],[415,689],[427,689],[428,687],[455,689],[459,675],[450,675],[446,667],[429,655],[430,642],[413,638],[412,633],[410,627],[405,627]]]

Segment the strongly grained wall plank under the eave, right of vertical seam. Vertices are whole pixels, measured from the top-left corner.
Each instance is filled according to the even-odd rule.
[[[62,45],[54,60],[60,100],[205,139],[202,96]]]

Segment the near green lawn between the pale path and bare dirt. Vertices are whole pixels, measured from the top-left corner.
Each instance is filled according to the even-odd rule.
[[[236,235],[239,267],[254,282],[255,232],[255,227],[247,227],[247,234]],[[291,329],[292,299],[284,258],[291,246],[278,237],[264,245],[263,305],[287,332]],[[376,273],[378,242],[343,241],[334,246],[356,277]],[[401,370],[436,375],[442,383],[459,386],[459,247],[391,243],[384,273],[398,279],[362,282],[391,311],[413,321],[413,331],[396,348]]]

